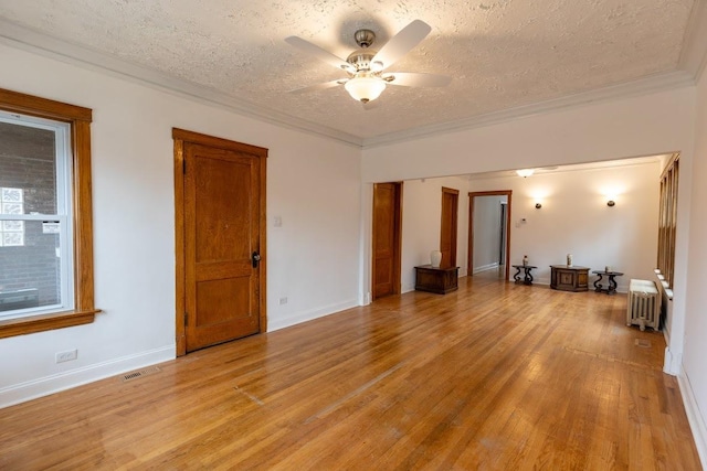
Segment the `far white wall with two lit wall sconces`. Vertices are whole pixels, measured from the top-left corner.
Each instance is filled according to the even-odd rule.
[[[657,254],[659,162],[610,169],[472,180],[472,191],[511,190],[510,263],[527,255],[535,281],[549,285],[550,265],[592,270],[612,266],[625,291],[632,278],[653,279]],[[608,193],[616,205],[606,206]],[[535,204],[542,207],[536,210]],[[525,222],[524,222],[525,220]],[[511,271],[513,274],[513,271]],[[592,277],[591,282],[597,279]]]

